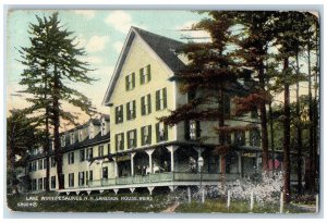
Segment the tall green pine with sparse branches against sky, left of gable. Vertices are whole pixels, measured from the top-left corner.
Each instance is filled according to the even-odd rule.
[[[62,109],[65,101],[80,108],[83,112],[94,112],[90,100],[80,91],[70,87],[69,83],[90,84],[94,78],[87,76],[88,63],[81,61],[86,55],[83,48],[74,44],[73,33],[64,29],[58,13],[50,16],[36,16],[37,23],[29,24],[31,47],[21,48],[22,63],[26,69],[22,84],[27,86],[27,92],[34,109],[45,111],[45,120],[53,129],[55,159],[59,189],[64,188],[62,174],[62,150],[60,146],[60,122],[66,120],[76,124],[76,115]],[[39,100],[43,98],[44,100]]]

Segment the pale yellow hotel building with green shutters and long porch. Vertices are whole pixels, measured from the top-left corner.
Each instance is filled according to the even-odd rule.
[[[187,121],[167,126],[158,117],[187,102],[177,82],[169,80],[186,63],[175,49],[180,41],[131,27],[102,104],[108,114],[62,133],[64,189],[92,193],[146,188],[218,185],[220,156],[215,122]],[[226,102],[227,110],[233,107]],[[110,116],[110,121],[109,121]],[[259,126],[255,111],[228,125]],[[261,171],[258,129],[239,131],[228,137],[235,151],[227,156],[227,181]],[[55,159],[50,158],[50,188],[58,190]],[[278,165],[277,168],[281,168]],[[31,190],[45,187],[45,157],[29,160]]]

